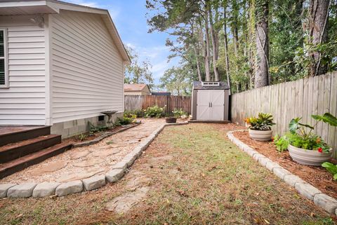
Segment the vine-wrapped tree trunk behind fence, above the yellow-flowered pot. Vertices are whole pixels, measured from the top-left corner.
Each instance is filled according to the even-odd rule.
[[[268,13],[269,0],[256,0],[256,88],[268,86],[270,83]]]

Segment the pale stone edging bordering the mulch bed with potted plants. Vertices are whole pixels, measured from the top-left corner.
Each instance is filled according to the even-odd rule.
[[[293,175],[291,172],[289,172],[289,170],[284,169],[278,163],[271,161],[263,154],[258,153],[258,151],[255,151],[247,144],[244,144],[244,142],[240,141],[233,135],[234,132],[238,131],[243,130],[233,130],[227,132],[227,137],[230,139],[230,141],[236,144],[239,149],[242,149],[242,151],[246,152],[246,154],[249,154],[249,156],[253,157],[255,161],[258,161],[260,165],[263,165],[268,170],[272,171],[277,177],[286,182],[286,184],[294,187],[301,196],[312,200],[315,205],[322,207],[322,209],[337,216],[337,200],[335,198],[322,193],[322,191],[319,191],[319,189],[315,188],[315,186],[308,184],[308,182],[305,182],[303,179],[300,179],[300,177]]]

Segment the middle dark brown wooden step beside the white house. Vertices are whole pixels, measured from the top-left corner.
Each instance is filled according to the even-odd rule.
[[[61,135],[46,135],[0,146],[0,163],[7,163],[60,143]]]

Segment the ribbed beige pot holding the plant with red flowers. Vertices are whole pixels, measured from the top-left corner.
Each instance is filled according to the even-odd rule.
[[[293,161],[303,165],[322,165],[322,163],[330,160],[332,154],[332,149],[330,149],[329,153],[326,153],[316,150],[300,149],[291,144],[288,146],[288,151]]]

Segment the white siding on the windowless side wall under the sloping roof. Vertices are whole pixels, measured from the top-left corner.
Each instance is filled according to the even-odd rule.
[[[50,15],[53,123],[123,111],[123,62],[100,15]]]

